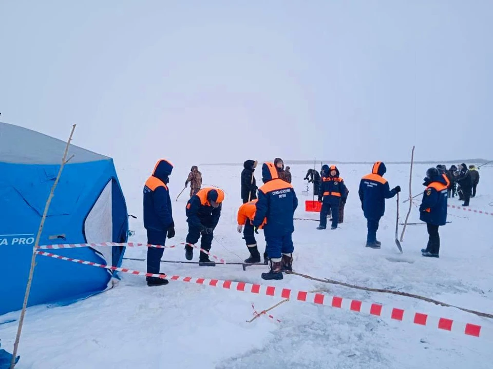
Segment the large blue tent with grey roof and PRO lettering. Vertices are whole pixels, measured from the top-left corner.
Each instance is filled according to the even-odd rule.
[[[0,122],[0,315],[20,310],[34,240],[60,169],[66,142]],[[40,245],[126,242],[128,214],[113,160],[70,145]],[[121,265],[123,247],[56,250],[57,254]],[[111,288],[116,273],[36,256],[28,306],[69,303]]]

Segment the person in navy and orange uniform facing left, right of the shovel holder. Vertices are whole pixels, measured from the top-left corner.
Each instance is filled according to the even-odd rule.
[[[421,249],[421,252],[423,256],[438,258],[440,252],[438,228],[445,226],[447,222],[449,181],[437,168],[430,168],[426,171],[423,186],[426,186],[426,189],[420,205],[420,220],[424,221],[428,228],[428,244],[426,249]]]

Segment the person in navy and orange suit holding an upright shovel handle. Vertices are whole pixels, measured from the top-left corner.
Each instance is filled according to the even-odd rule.
[[[376,231],[378,230],[380,218],[385,213],[385,199],[392,198],[401,191],[400,186],[390,190],[389,182],[383,178],[385,172],[387,172],[385,164],[377,161],[373,164],[371,173],[364,176],[359,182],[359,199],[368,223],[366,247],[372,249],[380,249],[382,245],[376,239]]]

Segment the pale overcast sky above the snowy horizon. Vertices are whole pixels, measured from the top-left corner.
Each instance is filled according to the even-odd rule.
[[[2,1],[1,121],[120,162],[493,158],[493,2]],[[0,148],[1,150],[1,148]]]

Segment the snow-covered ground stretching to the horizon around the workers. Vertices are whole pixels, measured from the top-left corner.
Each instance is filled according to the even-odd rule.
[[[469,163],[468,163],[469,164]],[[118,166],[118,163],[117,163]],[[448,165],[447,165],[448,166]],[[154,163],[144,168],[117,168],[136,231],[132,241],[145,242],[142,228],[142,186]],[[318,167],[318,166],[317,166]],[[416,165],[412,193],[423,191],[422,178],[429,165]],[[224,189],[223,214],[211,252],[226,261],[241,261],[248,251],[236,232],[236,212],[241,204],[241,166],[202,166],[204,185]],[[303,178],[308,166],[292,165],[293,186],[300,205],[295,216],[316,219],[304,211]],[[400,185],[401,221],[408,204],[408,165],[387,165],[390,187]],[[365,248],[366,221],[357,190],[359,179],[371,165],[340,165],[350,194],[345,221],[339,229],[317,231],[317,222],[295,220],[293,268],[319,278],[331,278],[372,288],[393,289],[438,299],[472,310],[493,313],[493,216],[449,209],[449,221],[440,229],[440,259],[424,258],[420,249],[427,241],[424,225],[408,226],[401,255],[394,243],[395,198],[387,200],[378,239],[381,250]],[[256,171],[260,185],[260,171]],[[493,168],[480,169],[478,195],[470,208],[493,211]],[[176,237],[186,236],[184,207],[188,189],[185,178],[173,174],[170,192],[174,201]],[[177,184],[179,183],[179,184]],[[311,191],[311,190],[310,190]],[[418,203],[420,197],[418,198]],[[449,204],[461,205],[457,199]],[[413,207],[410,222],[419,221]],[[402,227],[399,228],[399,236]],[[264,249],[262,232],[257,236]],[[126,257],[145,258],[144,249],[127,249]],[[185,260],[183,247],[165,250],[163,259]],[[194,253],[198,260],[198,253]],[[65,261],[60,261],[65,262]],[[145,271],[145,262],[124,261],[124,266]],[[91,268],[91,267],[87,267]],[[281,281],[263,281],[265,266],[243,271],[240,265],[215,268],[194,264],[162,263],[162,272],[180,276],[218,278],[269,284],[294,290],[328,290],[329,295],[361,299],[386,306],[480,324],[493,330],[493,321],[454,308],[444,308],[408,297],[353,290],[343,286],[285,275]],[[21,339],[21,360],[26,368],[491,368],[493,341],[456,335],[404,322],[289,301],[270,313],[281,322],[261,316],[252,323],[252,302],[261,311],[281,299],[171,281],[148,288],[145,278],[121,274],[116,288],[69,306],[35,306],[28,309]],[[0,317],[17,319],[18,313]],[[2,348],[11,352],[16,322],[0,325]]]

